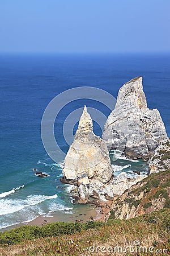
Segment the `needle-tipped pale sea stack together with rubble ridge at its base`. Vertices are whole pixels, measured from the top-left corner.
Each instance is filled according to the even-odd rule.
[[[125,172],[113,176],[107,145],[94,134],[92,119],[84,106],[74,141],[65,158],[61,179],[63,183],[76,185],[74,203],[86,204],[90,197],[113,200],[114,195],[122,195],[145,177],[137,175],[136,179],[128,179]]]

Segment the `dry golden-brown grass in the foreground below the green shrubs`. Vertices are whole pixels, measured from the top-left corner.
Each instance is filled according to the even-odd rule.
[[[168,210],[167,210],[168,211]],[[168,216],[168,212],[165,212]],[[157,213],[155,213],[157,214]],[[164,214],[164,213],[163,213]],[[139,217],[127,221],[110,221],[108,226],[100,227],[98,230],[88,229],[79,234],[72,234],[62,237],[47,237],[36,241],[23,241],[18,245],[0,247],[0,255],[36,255],[36,256],[80,256],[80,255],[158,255],[156,249],[168,249],[170,236],[168,229],[163,226],[165,218],[162,213],[152,215],[151,221]],[[154,221],[152,221],[154,220]],[[168,223],[168,222],[167,222]],[[126,246],[134,246],[134,241],[138,240],[141,246],[154,247],[154,253],[127,253],[116,251],[114,253],[103,253],[101,247],[121,246],[125,250]],[[95,252],[90,253],[90,246],[95,245]],[[96,247],[99,246],[98,252]],[[136,247],[135,247],[136,248]],[[87,250],[86,250],[87,249]],[[162,253],[160,255],[168,255]]]

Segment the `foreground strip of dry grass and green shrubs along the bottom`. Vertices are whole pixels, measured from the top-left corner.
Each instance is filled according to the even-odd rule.
[[[141,217],[132,218],[131,220],[112,220],[110,218],[107,224],[102,222],[88,222],[87,224],[66,225],[65,223],[57,222],[56,224],[47,224],[42,228],[25,226],[1,234],[0,255],[153,256],[158,255],[158,251],[161,255],[168,255],[170,242],[169,229],[169,209],[144,214]],[[28,233],[31,230],[32,237],[28,236],[27,240],[18,243],[18,238],[16,237],[19,237],[19,241],[21,236],[24,239],[24,236],[28,234],[26,230]],[[75,234],[63,235],[65,232],[73,232]],[[47,237],[38,238],[42,234]],[[7,243],[4,243],[5,239],[6,241],[11,240],[16,244],[9,246]],[[141,249],[139,243],[142,246]],[[102,246],[105,246],[105,248]],[[134,247],[126,250],[126,246]],[[124,252],[125,250],[126,252]],[[133,252],[134,250],[136,251],[135,253]],[[141,253],[139,253],[139,250],[141,250]],[[116,254],[114,254],[114,251]]]

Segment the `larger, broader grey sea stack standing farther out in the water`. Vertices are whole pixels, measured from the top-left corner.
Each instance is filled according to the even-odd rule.
[[[148,159],[167,138],[158,109],[148,109],[142,77],[124,84],[105,123],[103,139],[109,150],[124,151],[130,158]]]

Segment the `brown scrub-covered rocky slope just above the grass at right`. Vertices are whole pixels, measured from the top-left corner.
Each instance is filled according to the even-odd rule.
[[[170,170],[149,175],[115,197],[111,216],[129,219],[163,208],[170,208]]]

